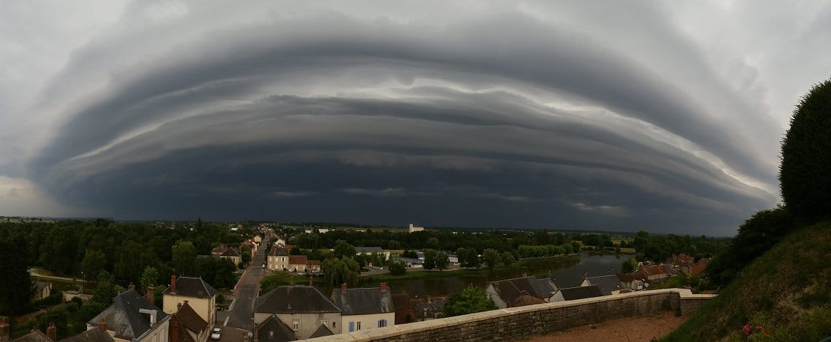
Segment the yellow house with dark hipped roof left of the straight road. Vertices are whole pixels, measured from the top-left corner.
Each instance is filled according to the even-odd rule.
[[[170,276],[170,287],[162,292],[162,310],[165,314],[171,315],[179,311],[179,305],[188,303],[192,308],[208,322],[209,326],[216,324],[216,289],[210,286],[202,278],[191,276]]]

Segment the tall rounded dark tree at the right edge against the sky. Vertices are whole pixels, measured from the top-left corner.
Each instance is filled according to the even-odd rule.
[[[808,222],[831,217],[831,79],[814,85],[782,141],[779,188],[785,206]]]

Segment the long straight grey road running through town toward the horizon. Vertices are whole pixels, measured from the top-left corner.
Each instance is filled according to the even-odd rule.
[[[263,240],[260,250],[253,257],[251,266],[243,273],[242,281],[234,290],[234,307],[231,308],[227,326],[253,330],[253,307],[259,291],[259,281],[263,278],[263,262],[268,251],[268,239]]]

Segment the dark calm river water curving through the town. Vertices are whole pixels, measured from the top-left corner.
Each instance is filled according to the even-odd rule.
[[[504,279],[519,278],[528,276],[552,276],[554,284],[558,287],[580,286],[583,282],[583,275],[605,276],[620,271],[621,263],[633,256],[597,256],[582,253],[580,260],[561,260],[559,258],[538,259],[527,262],[519,270],[514,271],[492,271],[482,272],[465,276],[445,276],[441,278],[416,279],[403,281],[386,281],[392,293],[407,291],[410,296],[425,295],[449,295],[460,291],[468,284],[485,286],[489,281],[501,281]],[[358,281],[359,287],[378,287],[377,281],[367,280],[364,277]],[[332,293],[331,288],[323,290],[323,293]]]

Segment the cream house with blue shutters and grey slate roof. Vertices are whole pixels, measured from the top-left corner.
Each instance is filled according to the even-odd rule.
[[[332,290],[332,302],[341,309],[341,326],[346,331],[384,328],[396,324],[396,309],[386,282],[380,287]]]

